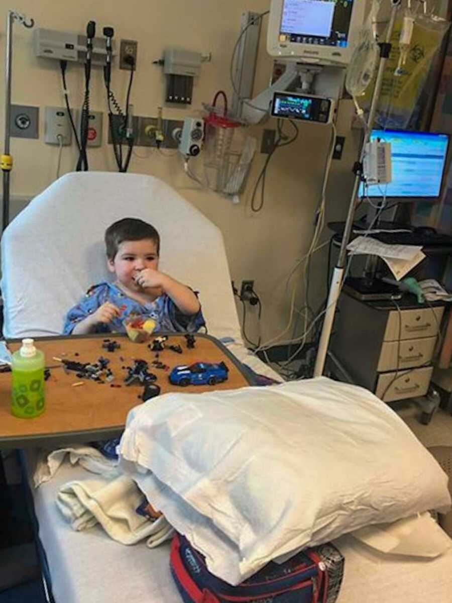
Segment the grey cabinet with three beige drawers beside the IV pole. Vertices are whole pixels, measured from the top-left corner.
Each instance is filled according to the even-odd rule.
[[[354,382],[384,402],[425,396],[444,305],[413,305],[412,299],[360,301],[347,293],[331,338],[331,352]]]

